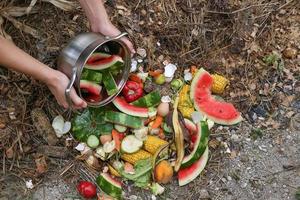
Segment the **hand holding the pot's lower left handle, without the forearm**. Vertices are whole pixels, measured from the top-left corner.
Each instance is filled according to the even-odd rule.
[[[52,94],[55,96],[59,105],[64,108],[68,108],[68,102],[65,97],[65,89],[69,83],[68,77],[60,71],[54,70],[52,75],[46,81],[46,84]],[[72,87],[70,93],[71,101],[73,102],[73,107],[75,109],[81,109],[87,107],[87,103],[82,100],[76,93],[75,89]]]

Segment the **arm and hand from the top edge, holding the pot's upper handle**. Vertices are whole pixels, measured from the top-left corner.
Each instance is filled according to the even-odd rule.
[[[79,0],[91,25],[93,32],[106,36],[117,36],[121,32],[111,23],[106,13],[102,0]],[[122,38],[132,53],[135,53],[132,43],[128,38]]]

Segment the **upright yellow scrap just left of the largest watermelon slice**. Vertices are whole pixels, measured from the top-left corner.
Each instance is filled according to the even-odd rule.
[[[195,111],[189,94],[190,86],[184,85],[179,92],[178,110],[186,118],[191,118],[192,113]]]

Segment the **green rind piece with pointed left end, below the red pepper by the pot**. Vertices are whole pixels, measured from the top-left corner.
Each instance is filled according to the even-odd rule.
[[[149,94],[135,100],[132,102],[132,105],[138,106],[138,107],[155,107],[157,106],[161,101],[161,96],[158,91],[152,91]]]

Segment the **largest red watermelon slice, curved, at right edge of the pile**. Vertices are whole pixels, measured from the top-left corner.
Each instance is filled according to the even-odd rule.
[[[203,68],[198,70],[191,84],[190,96],[195,109],[217,124],[233,125],[241,122],[241,113],[231,103],[217,101],[211,95],[213,79]]]

